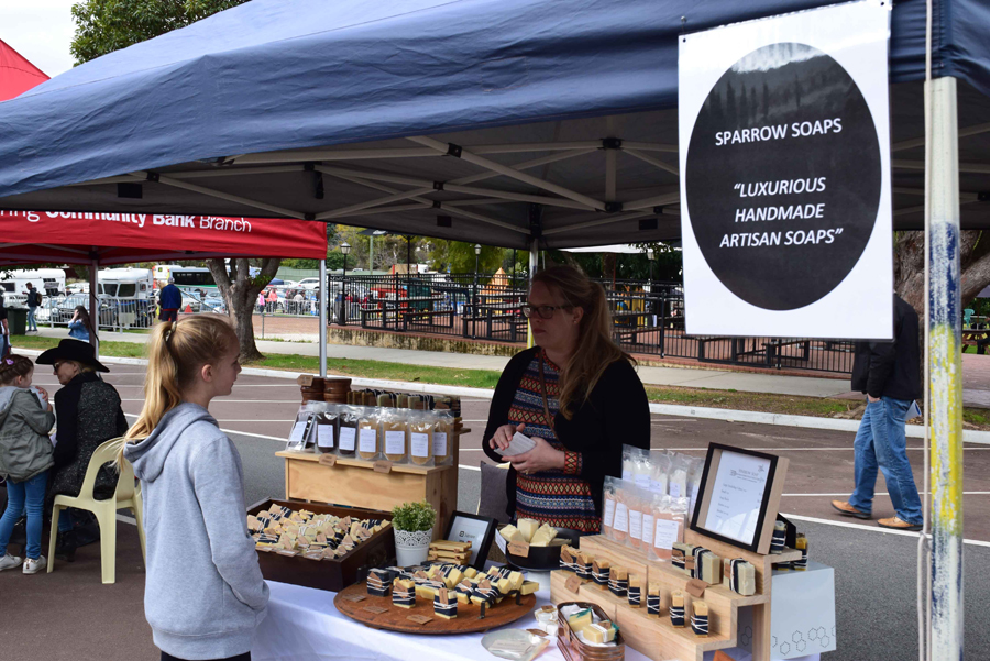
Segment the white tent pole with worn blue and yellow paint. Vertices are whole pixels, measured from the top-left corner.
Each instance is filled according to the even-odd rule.
[[[927,177],[928,386],[932,483],[932,659],[963,658],[963,356],[959,288],[959,135],[956,79],[925,84],[931,111]]]

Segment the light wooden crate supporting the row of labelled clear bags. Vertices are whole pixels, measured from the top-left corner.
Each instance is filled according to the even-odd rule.
[[[310,503],[332,503],[392,511],[403,503],[427,500],[437,510],[433,539],[447,530],[458,508],[458,451],[450,466],[393,465],[389,472],[375,470],[375,462],[337,458],[332,466],[312,452],[276,452],[285,459],[287,498]]]

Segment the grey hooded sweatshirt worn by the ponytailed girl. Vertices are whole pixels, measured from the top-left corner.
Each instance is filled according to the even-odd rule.
[[[248,532],[233,442],[209,411],[186,403],[124,456],[144,498],[144,614],[155,645],[190,660],[250,651],[268,586]]]

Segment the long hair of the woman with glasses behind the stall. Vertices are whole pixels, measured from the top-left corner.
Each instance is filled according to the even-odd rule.
[[[605,368],[616,361],[636,363],[612,339],[612,312],[605,289],[574,266],[551,266],[538,272],[534,283],[542,283],[560,297],[565,306],[582,308],[584,317],[578,329],[578,345],[566,365],[561,365],[560,412],[568,420],[595,389]]]

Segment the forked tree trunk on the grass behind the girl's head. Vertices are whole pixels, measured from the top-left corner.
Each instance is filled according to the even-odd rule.
[[[238,333],[241,362],[260,361],[265,356],[254,342],[254,305],[258,293],[272,282],[282,260],[262,260],[261,273],[251,277],[251,268],[246,258],[231,260],[230,274],[222,258],[208,262],[213,280],[227,301],[227,311],[234,322]]]

